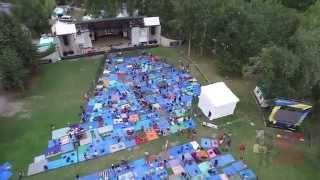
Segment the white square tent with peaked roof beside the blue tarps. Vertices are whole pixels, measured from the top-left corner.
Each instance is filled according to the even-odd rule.
[[[213,120],[233,114],[238,102],[239,98],[226,84],[218,82],[201,87],[198,107],[210,120]]]

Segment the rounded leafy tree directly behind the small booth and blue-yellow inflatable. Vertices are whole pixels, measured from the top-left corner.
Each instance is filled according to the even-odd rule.
[[[283,47],[270,47],[262,50],[259,56],[251,59],[253,73],[267,97],[292,97],[299,95],[303,72],[301,59]]]

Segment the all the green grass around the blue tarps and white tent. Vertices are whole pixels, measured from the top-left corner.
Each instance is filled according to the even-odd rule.
[[[150,51],[166,57],[174,65],[178,64],[184,54],[182,49],[156,48]],[[236,77],[226,80],[219,75],[213,59],[198,56],[194,56],[192,59],[196,65],[193,64],[191,66],[191,73],[201,84],[225,81],[240,98],[235,115],[217,121],[217,124],[224,131],[232,134],[233,148],[231,151],[237,158],[239,157],[237,147],[240,143],[244,143],[247,146],[245,162],[257,173],[260,179],[320,179],[319,165],[313,160],[312,155],[307,153],[309,150],[306,149],[307,146],[304,144],[290,147],[304,155],[304,161],[295,164],[273,163],[273,160],[281,159],[287,155],[285,151],[276,147],[273,148],[269,156],[254,154],[252,146],[256,140],[256,130],[264,129],[273,135],[275,130],[265,128],[262,123],[259,110],[250,94],[253,85]],[[41,154],[45,149],[50,136],[50,124],[53,123],[59,128],[68,122],[79,121],[78,113],[79,106],[82,103],[81,97],[90,87],[99,64],[99,60],[87,60],[45,65],[40,78],[24,97],[31,113],[30,118],[19,118],[19,115],[7,119],[1,118],[3,120],[1,120],[2,124],[0,126],[0,162],[12,162],[15,170],[26,169],[32,158]],[[200,123],[203,119],[199,117],[198,120]],[[250,122],[255,125],[251,126]],[[198,138],[214,137],[217,133],[219,133],[217,130],[201,126],[198,128]],[[188,141],[184,136],[172,135],[139,146],[131,151],[124,150],[112,156],[90,160],[78,165],[28,177],[27,179],[73,179],[75,174],[85,175],[92,173],[110,166],[112,163],[119,162],[121,159],[137,159],[142,157],[145,151],[158,153],[161,151],[166,139],[169,140],[171,145]]]

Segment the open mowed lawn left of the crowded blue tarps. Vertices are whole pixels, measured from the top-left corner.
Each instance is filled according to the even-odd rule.
[[[0,162],[24,169],[47,147],[50,126],[79,122],[83,94],[95,79],[102,58],[41,66],[39,78],[19,101],[23,112],[0,117]],[[92,85],[91,85],[92,86]]]

